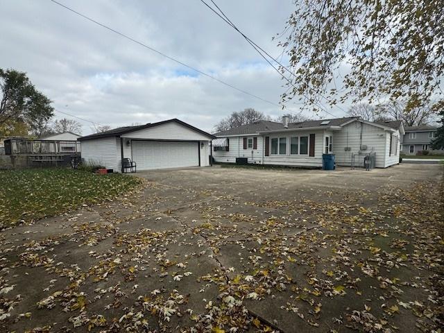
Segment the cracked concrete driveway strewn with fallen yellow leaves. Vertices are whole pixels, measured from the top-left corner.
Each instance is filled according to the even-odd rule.
[[[441,327],[442,175],[139,172],[142,192],[1,232],[0,327],[429,332]]]

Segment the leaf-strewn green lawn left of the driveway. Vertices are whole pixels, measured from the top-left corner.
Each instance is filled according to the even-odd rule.
[[[141,185],[118,173],[98,175],[73,169],[0,171],[0,228],[99,203]]]

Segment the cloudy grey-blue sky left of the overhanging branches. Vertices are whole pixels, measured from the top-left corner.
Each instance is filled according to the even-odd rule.
[[[58,1],[275,104],[287,89],[246,40],[199,0]],[[215,2],[251,40],[272,56],[281,55],[272,38],[284,29],[291,0]],[[58,119],[75,119],[67,115],[72,114],[115,128],[178,118],[212,132],[223,117],[244,108],[273,118],[284,113],[49,0],[0,0],[0,8],[0,67],[25,71],[53,101]],[[287,103],[288,110],[298,112],[297,103]],[[338,109],[331,112],[345,116]],[[87,121],[80,121],[83,135],[92,133]]]

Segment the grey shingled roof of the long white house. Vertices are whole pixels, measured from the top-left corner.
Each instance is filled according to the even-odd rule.
[[[244,126],[239,126],[232,128],[230,130],[223,130],[222,132],[215,133],[216,137],[223,137],[229,135],[248,135],[260,132],[266,132],[268,130],[289,130],[296,128],[312,128],[312,127],[330,127],[330,126],[341,126],[348,121],[357,119],[357,117],[344,117],[344,118],[334,118],[334,119],[319,119],[319,120],[308,120],[300,121],[298,123],[289,123],[287,128],[284,127],[283,123],[278,123],[276,121],[266,121],[259,120],[254,123],[248,123]],[[328,122],[328,123],[327,123]]]

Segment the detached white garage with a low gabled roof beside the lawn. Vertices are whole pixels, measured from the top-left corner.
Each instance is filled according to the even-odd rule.
[[[82,158],[89,164],[122,171],[123,158],[137,171],[210,165],[210,143],[215,137],[179,119],[126,126],[80,137]]]

